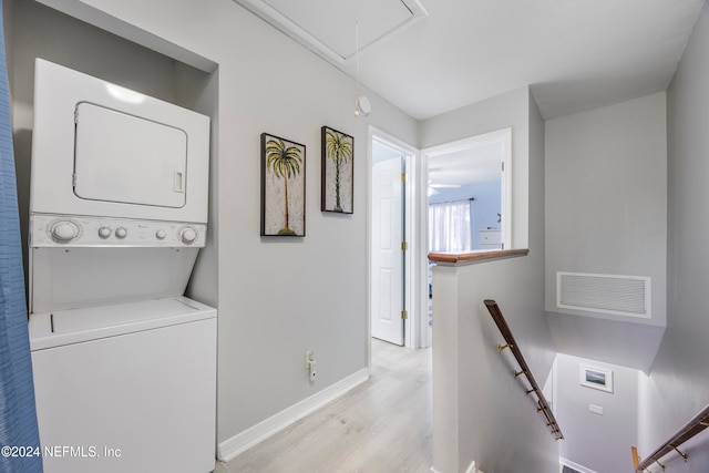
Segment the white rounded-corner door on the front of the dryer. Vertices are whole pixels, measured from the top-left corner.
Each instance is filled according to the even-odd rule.
[[[185,205],[183,130],[81,102],[76,105],[74,194],[89,200]]]

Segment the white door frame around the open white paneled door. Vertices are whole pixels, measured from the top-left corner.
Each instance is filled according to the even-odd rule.
[[[372,142],[378,141],[386,146],[400,150],[404,157],[407,174],[407,192],[404,195],[407,220],[405,233],[408,250],[405,253],[405,302],[409,317],[404,320],[404,347],[420,348],[419,343],[419,319],[420,305],[419,294],[421,292],[422,278],[420,277],[420,261],[417,255],[420,253],[420,226],[418,202],[421,188],[419,185],[421,165],[419,163],[419,151],[408,143],[390,135],[374,126],[369,125],[367,131],[367,336],[368,336],[368,366],[371,369],[371,233],[372,233]]]

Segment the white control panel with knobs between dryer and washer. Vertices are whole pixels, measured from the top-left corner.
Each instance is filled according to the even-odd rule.
[[[30,247],[204,247],[207,226],[82,215],[32,214]]]

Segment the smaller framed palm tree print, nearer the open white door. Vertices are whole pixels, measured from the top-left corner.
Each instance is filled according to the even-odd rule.
[[[320,210],[352,214],[354,199],[354,138],[323,126]]]

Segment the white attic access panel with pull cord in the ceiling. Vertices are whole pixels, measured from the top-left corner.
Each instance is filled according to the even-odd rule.
[[[397,31],[410,20],[428,16],[419,0],[235,0],[286,34],[343,63]]]

